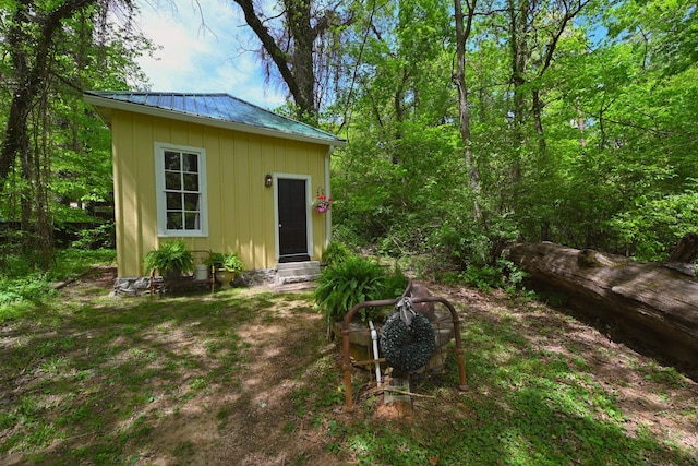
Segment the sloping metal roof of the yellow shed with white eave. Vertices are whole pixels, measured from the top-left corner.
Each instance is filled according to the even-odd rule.
[[[110,109],[116,108],[325,145],[346,144],[332,133],[228,94],[86,91],[84,98],[107,123],[111,119]]]

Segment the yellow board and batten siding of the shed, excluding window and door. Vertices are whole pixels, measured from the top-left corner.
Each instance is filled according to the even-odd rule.
[[[274,267],[276,191],[264,186],[264,177],[308,176],[309,252],[320,260],[327,241],[326,214],[315,213],[310,203],[325,187],[327,146],[116,109],[111,130],[119,276],[147,274],[143,258],[169,239],[157,232],[156,142],[206,151],[208,237],[185,238],[192,249],[234,251],[249,270]]]

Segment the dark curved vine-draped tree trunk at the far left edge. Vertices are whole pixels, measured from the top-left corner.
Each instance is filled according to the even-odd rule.
[[[96,0],[64,0],[46,13],[37,13],[32,0],[14,3],[14,12],[8,24],[7,43],[12,62],[8,93],[12,95],[2,144],[0,145],[0,198],[5,181],[20,163],[21,229],[23,252],[34,252],[40,265],[47,268],[52,256],[52,225],[48,214],[48,186],[50,164],[41,163],[46,103],[49,91],[48,75],[53,63],[55,45],[63,21],[74,16]],[[107,3],[105,3],[107,5]],[[37,117],[31,123],[32,116]],[[31,135],[35,143],[31,145]],[[40,147],[39,147],[40,145]]]

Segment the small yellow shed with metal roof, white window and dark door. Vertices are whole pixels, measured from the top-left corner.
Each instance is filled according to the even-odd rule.
[[[85,92],[111,129],[119,277],[163,240],[237,252],[248,270],[320,260],[329,157],[346,142],[227,94]]]

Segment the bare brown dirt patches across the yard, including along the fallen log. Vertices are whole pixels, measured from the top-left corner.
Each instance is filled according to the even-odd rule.
[[[101,268],[88,277],[69,284],[62,292],[80,296],[82,287],[110,288],[115,271]],[[579,348],[574,356],[586,359],[591,367],[590,373],[595,381],[617,392],[617,402],[627,416],[627,427],[649,427],[653,432],[672,432],[677,443],[698,451],[698,426],[695,418],[695,404],[698,401],[698,384],[689,381],[659,394],[654,381],[643,377],[634,367],[647,357],[614,342],[604,333],[578,320],[565,318],[541,306],[527,303],[513,306],[504,295],[484,294],[465,287],[446,287],[428,284],[432,292],[456,303],[461,322],[467,325],[473,320],[490,320],[496,323],[502,319],[493,309],[505,308],[507,316],[514,316],[526,338],[547,351],[568,353],[569,343]],[[257,292],[249,289],[243,292]],[[538,309],[538,310],[537,310]],[[292,309],[286,309],[291,313]],[[299,315],[301,318],[299,318]],[[240,335],[249,345],[250,358],[239,374],[241,390],[220,396],[201,396],[196,403],[189,403],[179,409],[180,416],[172,421],[156,427],[152,433],[158,439],[157,451],[140,452],[145,464],[166,465],[174,459],[164,452],[176,452],[191,445],[193,465],[285,465],[293,458],[303,457],[306,464],[332,465],[336,456],[328,452],[323,429],[310,426],[305,419],[294,413],[289,392],[298,389],[299,365],[316,359],[316,355],[306,355],[303,350],[305,336],[322,326],[322,316],[316,313],[296,313],[293,319],[279,321],[278,325],[256,322],[240,328]],[[541,332],[545,328],[545,332]],[[289,336],[296,336],[290,338]],[[176,334],[171,335],[177,338]],[[193,342],[172,342],[177,345],[191,345]],[[336,354],[337,370],[340,370],[339,354],[333,344],[323,349]],[[220,413],[227,415],[221,423]],[[684,416],[684,413],[689,415]],[[333,409],[336,420],[347,420],[352,414],[344,413],[341,406]],[[400,416],[389,408],[375,411],[376,417]],[[414,417],[429,417],[429,413],[413,410]],[[297,423],[300,422],[300,423]],[[293,425],[292,431],[288,426]],[[182,439],[189,443],[182,444]],[[181,451],[179,452],[181,458]],[[142,464],[142,463],[139,463]]]

